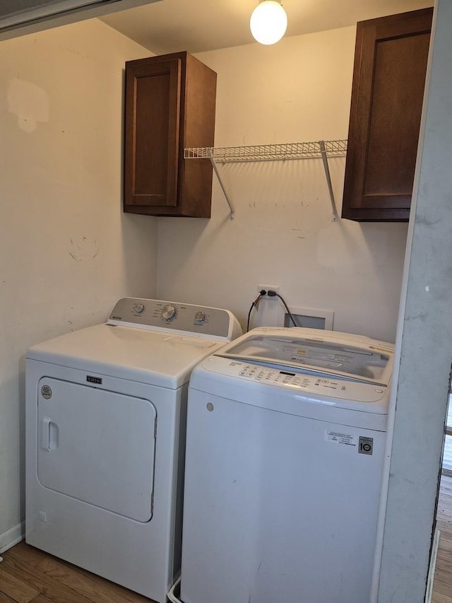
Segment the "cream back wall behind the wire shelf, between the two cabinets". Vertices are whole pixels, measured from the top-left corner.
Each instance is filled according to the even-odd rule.
[[[350,27],[196,55],[218,73],[215,146],[346,139],[354,49]],[[344,168],[331,160],[339,206]],[[159,219],[160,298],[246,324],[268,283],[291,306],[334,310],[335,330],[395,339],[406,224],[332,223],[320,159],[219,169],[236,218],[214,177],[210,221]]]

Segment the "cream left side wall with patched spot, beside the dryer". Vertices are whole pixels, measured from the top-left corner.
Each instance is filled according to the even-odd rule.
[[[24,354],[155,294],[157,222],[121,211],[124,61],[100,21],[0,42],[0,551],[23,518]]]

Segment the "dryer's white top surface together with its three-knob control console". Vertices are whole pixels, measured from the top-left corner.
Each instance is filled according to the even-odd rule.
[[[27,352],[27,358],[177,389],[203,358],[242,329],[228,310],[124,298],[107,324],[80,329]]]

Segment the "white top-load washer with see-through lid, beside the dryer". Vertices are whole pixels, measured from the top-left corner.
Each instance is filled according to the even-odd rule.
[[[254,329],[189,387],[180,599],[368,603],[393,346]]]

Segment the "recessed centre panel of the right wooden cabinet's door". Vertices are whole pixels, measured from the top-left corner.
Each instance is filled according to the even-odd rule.
[[[428,53],[428,34],[376,44],[363,182],[366,205],[387,201],[392,206],[396,201],[399,207],[400,202],[410,207]],[[379,199],[380,195],[388,198]]]

